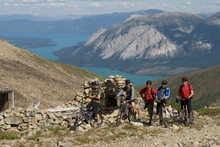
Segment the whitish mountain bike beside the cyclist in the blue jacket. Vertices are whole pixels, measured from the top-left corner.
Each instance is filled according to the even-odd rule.
[[[177,123],[179,124],[180,122],[180,112],[176,107],[171,107],[170,104],[170,98],[167,99],[169,101],[169,104],[167,105],[166,103],[163,103],[162,106],[162,122],[164,126],[167,128],[169,127],[169,123],[171,122],[172,124]],[[156,102],[160,102],[156,100]]]

